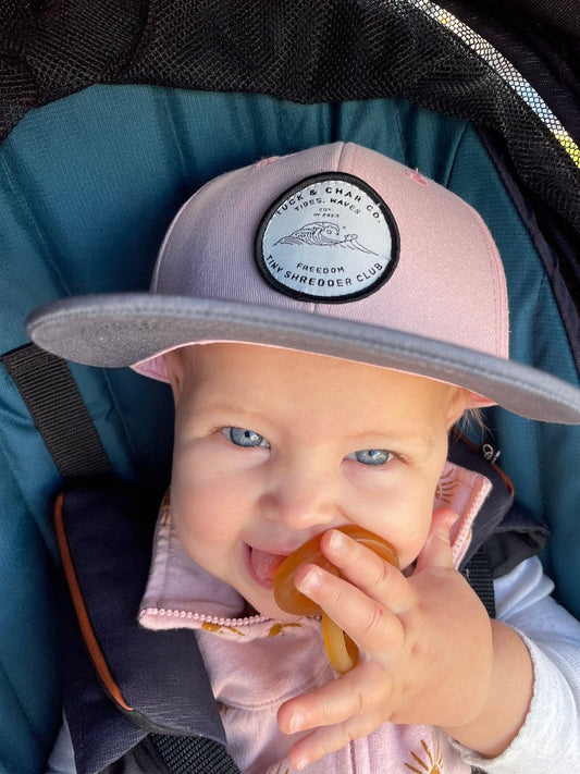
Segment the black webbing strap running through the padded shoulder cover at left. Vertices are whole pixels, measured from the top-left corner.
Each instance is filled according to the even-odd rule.
[[[111,465],[65,360],[35,344],[0,358],[63,479],[102,476]],[[171,774],[239,774],[223,745],[202,736],[150,734]]]

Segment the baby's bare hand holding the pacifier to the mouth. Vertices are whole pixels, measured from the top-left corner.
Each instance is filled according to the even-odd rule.
[[[360,651],[350,672],[280,708],[283,732],[312,729],[291,751],[297,769],[386,722],[459,727],[478,717],[492,681],[492,627],[453,568],[453,517],[435,512],[408,578],[336,530],[323,536],[321,549],[346,580],[316,565],[297,570],[297,588]]]

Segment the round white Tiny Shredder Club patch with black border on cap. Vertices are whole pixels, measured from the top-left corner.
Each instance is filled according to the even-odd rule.
[[[263,217],[256,260],[275,290],[344,304],[379,290],[398,260],[393,213],[365,181],[329,172],[286,191]]]

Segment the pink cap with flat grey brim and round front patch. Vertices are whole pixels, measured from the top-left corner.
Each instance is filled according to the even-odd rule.
[[[416,170],[355,144],[264,159],[182,207],[149,293],[33,312],[66,359],[165,380],[163,353],[240,342],[436,379],[522,416],[580,423],[580,389],[509,359],[502,260],[480,216]]]

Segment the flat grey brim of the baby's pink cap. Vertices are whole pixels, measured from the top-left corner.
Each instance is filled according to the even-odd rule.
[[[305,311],[149,293],[87,295],[36,310],[27,331],[55,355],[107,368],[132,366],[186,343],[299,349],[458,384],[530,419],[580,423],[580,389],[531,366]]]

